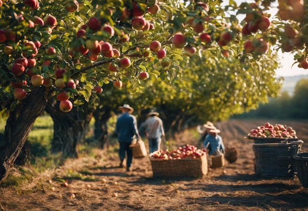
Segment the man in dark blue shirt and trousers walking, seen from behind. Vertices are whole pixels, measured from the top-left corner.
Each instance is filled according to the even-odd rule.
[[[124,104],[119,108],[122,110],[122,115],[119,116],[117,120],[116,133],[118,134],[118,141],[120,143],[120,167],[126,166],[126,171],[129,172],[132,170],[131,163],[133,159],[133,152],[129,145],[133,141],[134,137],[140,139],[140,136],[137,129],[136,117],[131,114],[134,109],[128,104]]]

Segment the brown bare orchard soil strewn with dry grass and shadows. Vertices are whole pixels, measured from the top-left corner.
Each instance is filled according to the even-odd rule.
[[[126,173],[118,167],[115,154],[96,149],[92,152],[95,158],[68,159],[61,168],[29,179],[21,192],[0,187],[0,210],[307,211],[308,190],[296,174],[292,178],[266,178],[255,174],[253,141],[244,137],[266,121],[292,126],[304,141],[302,151],[308,151],[308,121],[228,120],[217,123],[216,127],[221,130],[225,146],[236,146],[238,159],[234,163],[226,161],[221,168],[209,169],[202,178],[154,178],[149,157],[134,159],[133,171]],[[178,146],[199,144],[187,131],[175,137]],[[67,172],[79,172],[92,179],[71,178],[68,187],[63,187],[57,178]],[[18,171],[13,169],[11,174]],[[113,196],[115,192],[118,197]],[[75,198],[71,198],[71,193]]]

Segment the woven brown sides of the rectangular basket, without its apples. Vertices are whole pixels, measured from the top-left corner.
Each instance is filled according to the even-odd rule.
[[[207,155],[190,159],[150,159],[153,177],[157,178],[198,178],[208,173]]]

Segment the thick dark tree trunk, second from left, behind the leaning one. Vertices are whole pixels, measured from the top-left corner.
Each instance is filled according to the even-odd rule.
[[[54,121],[51,152],[62,152],[64,157],[78,157],[76,146],[85,140],[92,118],[92,109],[81,109],[76,106],[69,112],[62,112],[59,109],[59,102],[52,102],[47,104],[45,110]]]

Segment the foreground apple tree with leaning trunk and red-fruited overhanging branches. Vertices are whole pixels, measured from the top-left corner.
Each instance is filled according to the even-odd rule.
[[[70,112],[93,104],[97,85],[120,88],[127,81],[136,90],[139,77],[147,77],[139,73],[148,72],[151,63],[163,67],[153,75],[172,81],[182,75],[182,55],[197,48],[218,49],[225,56],[232,51],[252,65],[275,45],[296,51],[296,63],[306,60],[303,2],[279,3],[277,23],[271,25],[263,12],[271,0],[239,6],[230,0],[225,7],[215,0],[0,0],[0,99],[9,112],[0,140],[0,181],[53,100]],[[246,25],[226,15],[229,10],[247,14]]]

